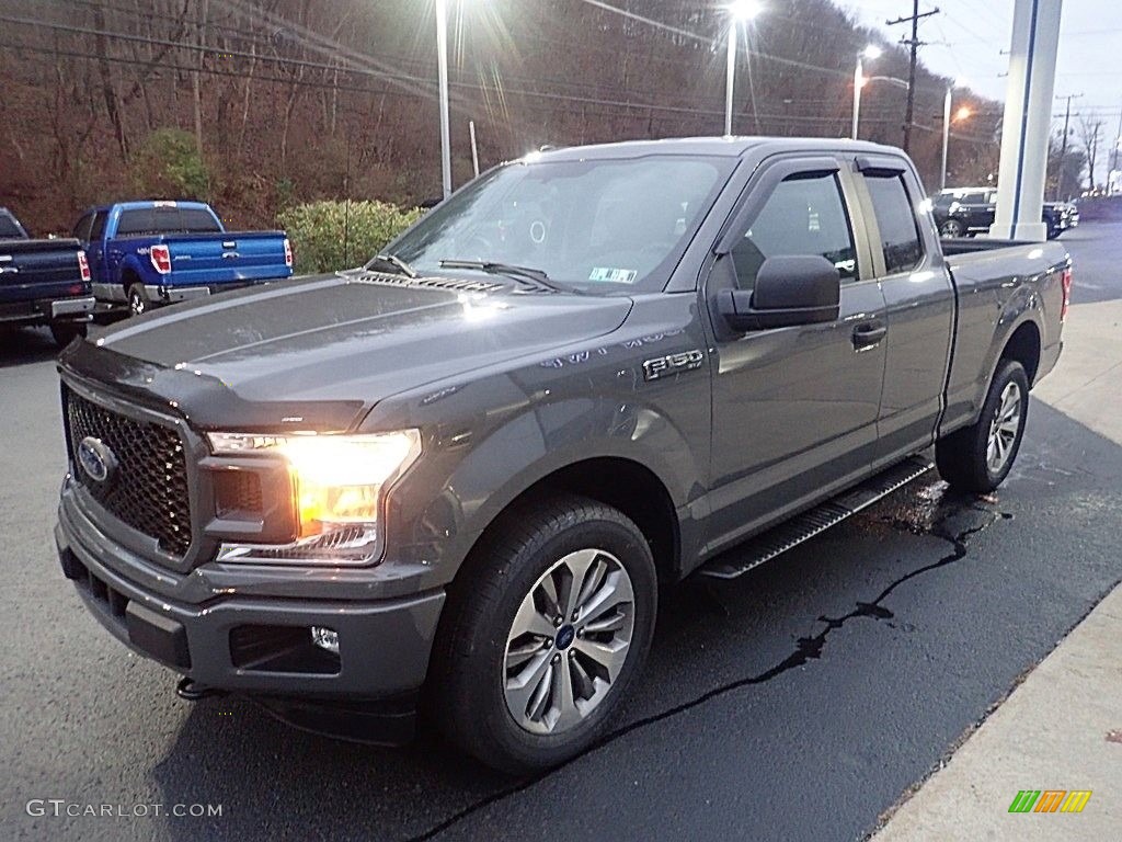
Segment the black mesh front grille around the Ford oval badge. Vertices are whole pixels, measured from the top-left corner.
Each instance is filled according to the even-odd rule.
[[[121,415],[64,390],[74,476],[110,514],[146,536],[173,556],[191,546],[191,505],[183,440],[173,427]],[[103,483],[82,469],[82,439],[99,439],[117,459]]]

